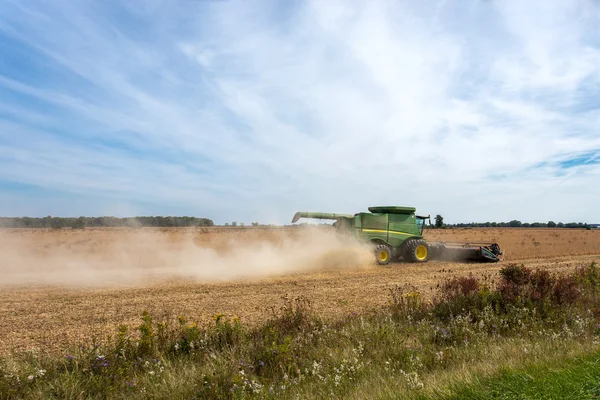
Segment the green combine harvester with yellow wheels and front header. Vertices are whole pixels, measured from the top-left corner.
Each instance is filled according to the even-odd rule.
[[[335,220],[340,233],[352,234],[371,243],[380,265],[404,260],[424,263],[430,259],[451,261],[498,262],[502,250],[497,243],[427,242],[423,238],[425,220],[431,217],[416,215],[414,207],[369,207],[370,212],[330,214],[297,212],[292,223],[300,218]]]

